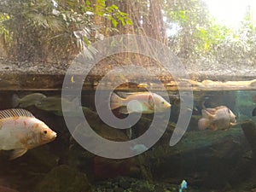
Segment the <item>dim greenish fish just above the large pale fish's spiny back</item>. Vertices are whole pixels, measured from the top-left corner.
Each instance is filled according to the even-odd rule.
[[[35,105],[37,102],[41,101],[45,98],[44,94],[42,93],[32,93],[20,98],[16,94],[13,95],[12,98],[12,107],[13,108],[28,108],[30,106]]]

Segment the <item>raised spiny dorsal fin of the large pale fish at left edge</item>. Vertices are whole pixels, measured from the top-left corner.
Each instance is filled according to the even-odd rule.
[[[22,108],[12,108],[0,111],[0,119],[11,117],[34,117],[32,113]]]

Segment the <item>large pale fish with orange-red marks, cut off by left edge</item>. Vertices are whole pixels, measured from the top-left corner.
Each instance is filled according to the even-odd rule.
[[[10,160],[14,160],[28,149],[55,140],[57,134],[43,121],[22,108],[0,111],[0,150],[13,150]]]

